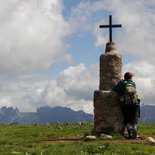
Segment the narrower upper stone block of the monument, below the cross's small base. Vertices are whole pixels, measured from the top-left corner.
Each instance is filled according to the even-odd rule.
[[[110,90],[122,77],[122,56],[114,51],[100,56],[99,90]]]

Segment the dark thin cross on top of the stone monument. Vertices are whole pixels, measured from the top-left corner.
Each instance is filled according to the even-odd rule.
[[[121,24],[112,25],[112,15],[109,15],[109,25],[100,25],[100,28],[109,28],[109,42],[112,42],[112,28],[122,27]]]

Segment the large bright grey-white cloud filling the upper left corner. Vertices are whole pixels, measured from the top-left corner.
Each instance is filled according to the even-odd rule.
[[[63,38],[69,25],[61,0],[0,1],[0,71],[45,69],[70,61]],[[5,20],[4,20],[5,19]]]

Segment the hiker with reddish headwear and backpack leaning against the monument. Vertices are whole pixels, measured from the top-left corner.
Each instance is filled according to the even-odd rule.
[[[140,98],[136,92],[136,84],[132,81],[133,73],[126,72],[124,80],[115,85],[112,90],[120,95],[120,104],[124,117],[124,131],[127,128],[128,137],[137,138],[138,117],[140,117]]]

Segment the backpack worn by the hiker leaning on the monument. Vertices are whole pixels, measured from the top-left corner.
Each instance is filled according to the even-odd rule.
[[[137,91],[135,88],[135,84],[133,82],[124,81],[125,89],[124,89],[124,103],[125,104],[137,104]]]

